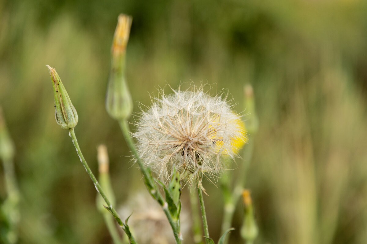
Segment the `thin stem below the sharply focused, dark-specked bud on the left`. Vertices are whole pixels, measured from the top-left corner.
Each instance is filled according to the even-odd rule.
[[[83,154],[81,153],[80,147],[79,147],[79,143],[76,139],[75,136],[75,132],[74,129],[69,129],[69,135],[72,138],[73,144],[75,146],[76,152],[79,156],[79,159],[81,161],[81,163],[83,164],[84,168],[86,169],[88,175],[90,176],[90,178],[93,181],[93,184],[95,186],[95,189],[97,190],[97,192],[101,195],[101,197],[103,198],[103,200],[105,201],[105,203],[107,204],[106,209],[108,211],[111,212],[111,214],[115,217],[117,223],[119,223],[120,227],[124,230],[124,232],[130,236],[130,243],[131,244],[136,244],[136,241],[134,240],[134,237],[131,236],[131,233],[128,231],[128,229],[126,228],[126,225],[121,221],[119,214],[117,214],[115,208],[112,207],[111,202],[108,200],[106,194],[103,192],[101,185],[99,185],[97,179],[95,178],[93,172],[91,171],[91,169],[89,168],[87,161],[84,159]]]

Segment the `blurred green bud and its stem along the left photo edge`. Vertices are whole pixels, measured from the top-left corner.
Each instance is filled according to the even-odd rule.
[[[3,112],[0,107],[0,158],[3,161],[5,189],[7,198],[1,204],[0,221],[6,222],[0,226],[0,240],[4,243],[17,243],[19,212],[19,190],[14,171],[15,148],[7,131]],[[1,220],[4,217],[4,220]],[[3,229],[4,228],[4,229]]]

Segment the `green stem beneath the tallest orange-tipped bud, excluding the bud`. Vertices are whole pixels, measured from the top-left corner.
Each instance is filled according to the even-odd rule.
[[[166,201],[163,199],[163,196],[160,194],[159,190],[156,188],[155,183],[153,182],[153,178],[152,175],[150,174],[150,170],[149,168],[145,168],[143,162],[141,161],[138,151],[135,148],[135,143],[132,141],[131,135],[130,135],[130,130],[129,130],[129,126],[126,120],[121,120],[120,121],[120,127],[121,127],[121,131],[125,137],[126,143],[128,145],[128,147],[130,148],[130,150],[132,151],[132,153],[135,156],[135,159],[137,160],[141,173],[143,174],[144,177],[144,181],[145,181],[145,185],[150,193],[150,195],[152,195],[152,197],[154,199],[156,199],[158,201],[158,203],[161,205],[164,214],[166,214],[168,222],[170,222],[171,228],[173,230],[173,234],[175,237],[175,241],[177,244],[181,244],[182,243],[182,234],[180,232],[180,225],[179,225],[179,219],[177,221],[174,221],[172,219],[172,216],[170,214],[170,211],[168,210],[167,207],[167,203]]]

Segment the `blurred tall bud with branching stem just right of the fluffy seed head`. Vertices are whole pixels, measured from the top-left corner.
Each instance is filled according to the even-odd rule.
[[[244,108],[247,112],[245,117],[245,128],[247,132],[247,144],[243,149],[243,162],[240,167],[240,173],[231,189],[230,179],[233,178],[232,171],[229,170],[227,174],[221,178],[221,190],[224,200],[224,214],[222,220],[221,233],[224,234],[232,225],[233,214],[236,210],[236,205],[243,192],[243,187],[246,180],[246,172],[248,165],[251,162],[252,152],[254,149],[254,135],[258,130],[258,119],[255,113],[254,92],[252,86],[247,84],[244,86]],[[224,244],[228,243],[229,237],[224,240]]]

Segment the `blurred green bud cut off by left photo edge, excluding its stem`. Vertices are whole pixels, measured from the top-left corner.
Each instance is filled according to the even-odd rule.
[[[4,161],[11,160],[14,157],[14,153],[14,143],[6,128],[5,119],[0,107],[0,158]]]

